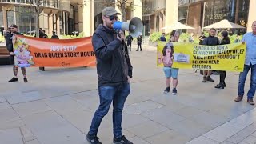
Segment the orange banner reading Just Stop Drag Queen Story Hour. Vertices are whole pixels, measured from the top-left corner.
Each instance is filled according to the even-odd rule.
[[[91,37],[78,39],[32,38],[17,35],[14,62],[19,67],[95,66]]]

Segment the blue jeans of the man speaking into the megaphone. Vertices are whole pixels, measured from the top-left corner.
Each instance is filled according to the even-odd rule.
[[[98,94],[100,98],[100,105],[94,114],[89,134],[97,135],[98,127],[102,122],[102,118],[108,113],[111,102],[113,101],[114,137],[122,137],[122,109],[127,96],[130,94],[130,84],[126,83],[118,86],[99,86]]]

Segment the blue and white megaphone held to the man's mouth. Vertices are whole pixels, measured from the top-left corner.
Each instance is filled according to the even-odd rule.
[[[114,22],[113,28],[114,30],[129,31],[132,37],[138,37],[142,34],[143,24],[140,18],[134,17],[130,20],[130,22]]]

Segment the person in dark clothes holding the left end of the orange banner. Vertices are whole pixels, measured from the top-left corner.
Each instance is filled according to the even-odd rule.
[[[23,35],[21,33],[18,32],[18,26],[15,24],[12,24],[10,26],[10,32],[11,34],[8,35],[8,37],[6,37],[6,47],[7,50],[10,52],[10,64],[14,65],[14,44],[16,42],[16,35]],[[23,74],[23,81],[27,82],[27,78],[26,78],[26,68],[25,67],[21,67],[22,69],[22,74]],[[17,82],[18,81],[18,66],[13,66],[13,71],[14,71],[14,77],[10,79],[9,82]]]

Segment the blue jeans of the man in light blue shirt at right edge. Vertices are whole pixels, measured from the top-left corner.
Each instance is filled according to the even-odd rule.
[[[255,94],[255,88],[256,88],[256,65],[245,65],[243,68],[243,72],[239,75],[239,84],[238,84],[238,96],[242,97],[245,93],[245,82],[246,77],[251,69],[251,75],[250,75],[250,90],[247,93],[247,98],[254,98]]]

